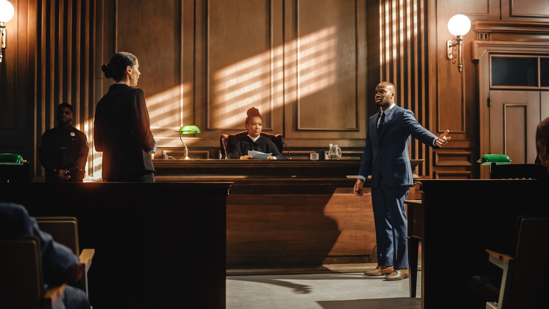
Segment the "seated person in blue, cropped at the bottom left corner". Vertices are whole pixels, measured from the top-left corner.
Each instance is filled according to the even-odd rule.
[[[38,228],[25,207],[12,203],[0,203],[0,237],[20,235],[37,236],[40,239],[42,272],[46,286],[64,283],[74,284],[82,277],[83,267],[79,258],[66,246],[55,242],[51,235]],[[86,293],[67,285],[61,308],[91,308]]]

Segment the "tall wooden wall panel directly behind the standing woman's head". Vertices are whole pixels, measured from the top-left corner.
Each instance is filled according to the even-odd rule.
[[[130,52],[138,59],[137,87],[145,93],[153,135],[178,138],[173,131],[181,126],[182,2],[118,0],[116,4],[116,52]],[[138,20],[154,22],[143,27]],[[171,135],[156,134],[163,128],[169,128]]]

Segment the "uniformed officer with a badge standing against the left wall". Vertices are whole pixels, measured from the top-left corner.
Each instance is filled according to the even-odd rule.
[[[57,128],[42,135],[38,151],[40,164],[46,170],[46,181],[83,181],[88,159],[86,134],[71,125],[72,106],[57,106]]]

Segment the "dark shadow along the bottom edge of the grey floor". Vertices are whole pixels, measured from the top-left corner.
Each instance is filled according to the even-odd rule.
[[[354,300],[326,300],[317,301],[323,309],[419,309],[421,298],[396,297],[385,299],[354,299]]]

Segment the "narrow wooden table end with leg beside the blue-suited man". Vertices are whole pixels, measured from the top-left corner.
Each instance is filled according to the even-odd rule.
[[[410,273],[410,297],[416,297],[417,258],[421,241],[421,200],[406,200],[408,217],[408,271]]]

